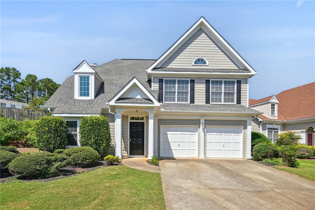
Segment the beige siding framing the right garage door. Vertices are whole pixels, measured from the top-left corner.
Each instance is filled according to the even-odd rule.
[[[246,158],[246,146],[247,146],[247,121],[246,120],[204,120],[204,124],[205,126],[208,126],[208,125],[243,126],[243,158]],[[206,129],[205,129],[205,133],[206,133]],[[206,145],[206,139],[204,143]],[[206,151],[206,148],[204,149],[204,151]]]

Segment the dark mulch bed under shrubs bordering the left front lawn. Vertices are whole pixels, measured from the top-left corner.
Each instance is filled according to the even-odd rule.
[[[115,163],[114,166],[117,165],[123,165],[121,162]],[[107,165],[107,163],[102,160],[98,161],[95,163],[95,165],[87,167],[87,168],[82,168],[85,169],[86,171],[93,171],[98,168],[102,167],[108,167],[110,165]],[[7,168],[1,168],[0,170],[0,183],[5,183],[5,182],[10,182],[13,180],[21,180],[22,182],[32,182],[32,181],[38,181],[38,182],[49,182],[49,181],[54,181],[57,179],[62,179],[62,178],[67,178],[67,177],[73,177],[78,175],[79,173],[74,173],[73,170],[75,170],[77,167],[74,166],[67,166],[65,168],[59,169],[59,172],[61,173],[60,176],[58,177],[50,177],[46,179],[19,179],[18,176],[12,175]]]

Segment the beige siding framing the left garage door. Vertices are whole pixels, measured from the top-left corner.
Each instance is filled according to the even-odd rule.
[[[157,120],[157,156],[160,157],[160,128],[161,125],[198,125],[198,157],[200,155],[200,120]]]

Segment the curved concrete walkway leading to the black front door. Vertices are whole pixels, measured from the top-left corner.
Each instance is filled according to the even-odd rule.
[[[128,157],[123,158],[123,165],[128,166],[130,168],[136,168],[143,171],[150,171],[159,173],[160,167],[152,166],[149,163],[146,162],[148,158],[146,157]]]

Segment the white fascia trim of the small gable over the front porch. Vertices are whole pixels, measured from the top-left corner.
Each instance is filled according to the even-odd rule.
[[[115,102],[121,95],[123,95],[123,93],[125,91],[127,91],[131,85],[133,84],[136,84],[145,94],[146,96],[149,97],[149,99],[152,100],[152,102],[154,103],[153,106],[160,106],[160,103],[155,99],[154,96],[152,96],[152,94],[141,84],[141,82],[136,78],[134,77],[133,79],[131,79],[127,85],[125,85],[109,102],[108,104],[109,105],[127,105],[128,103],[124,104],[124,103],[119,103],[117,104],[117,102]],[[136,103],[138,105],[138,103]],[[132,104],[133,106],[135,104]],[[141,106],[141,104],[139,104]],[[147,106],[145,104],[143,104],[142,106]]]

